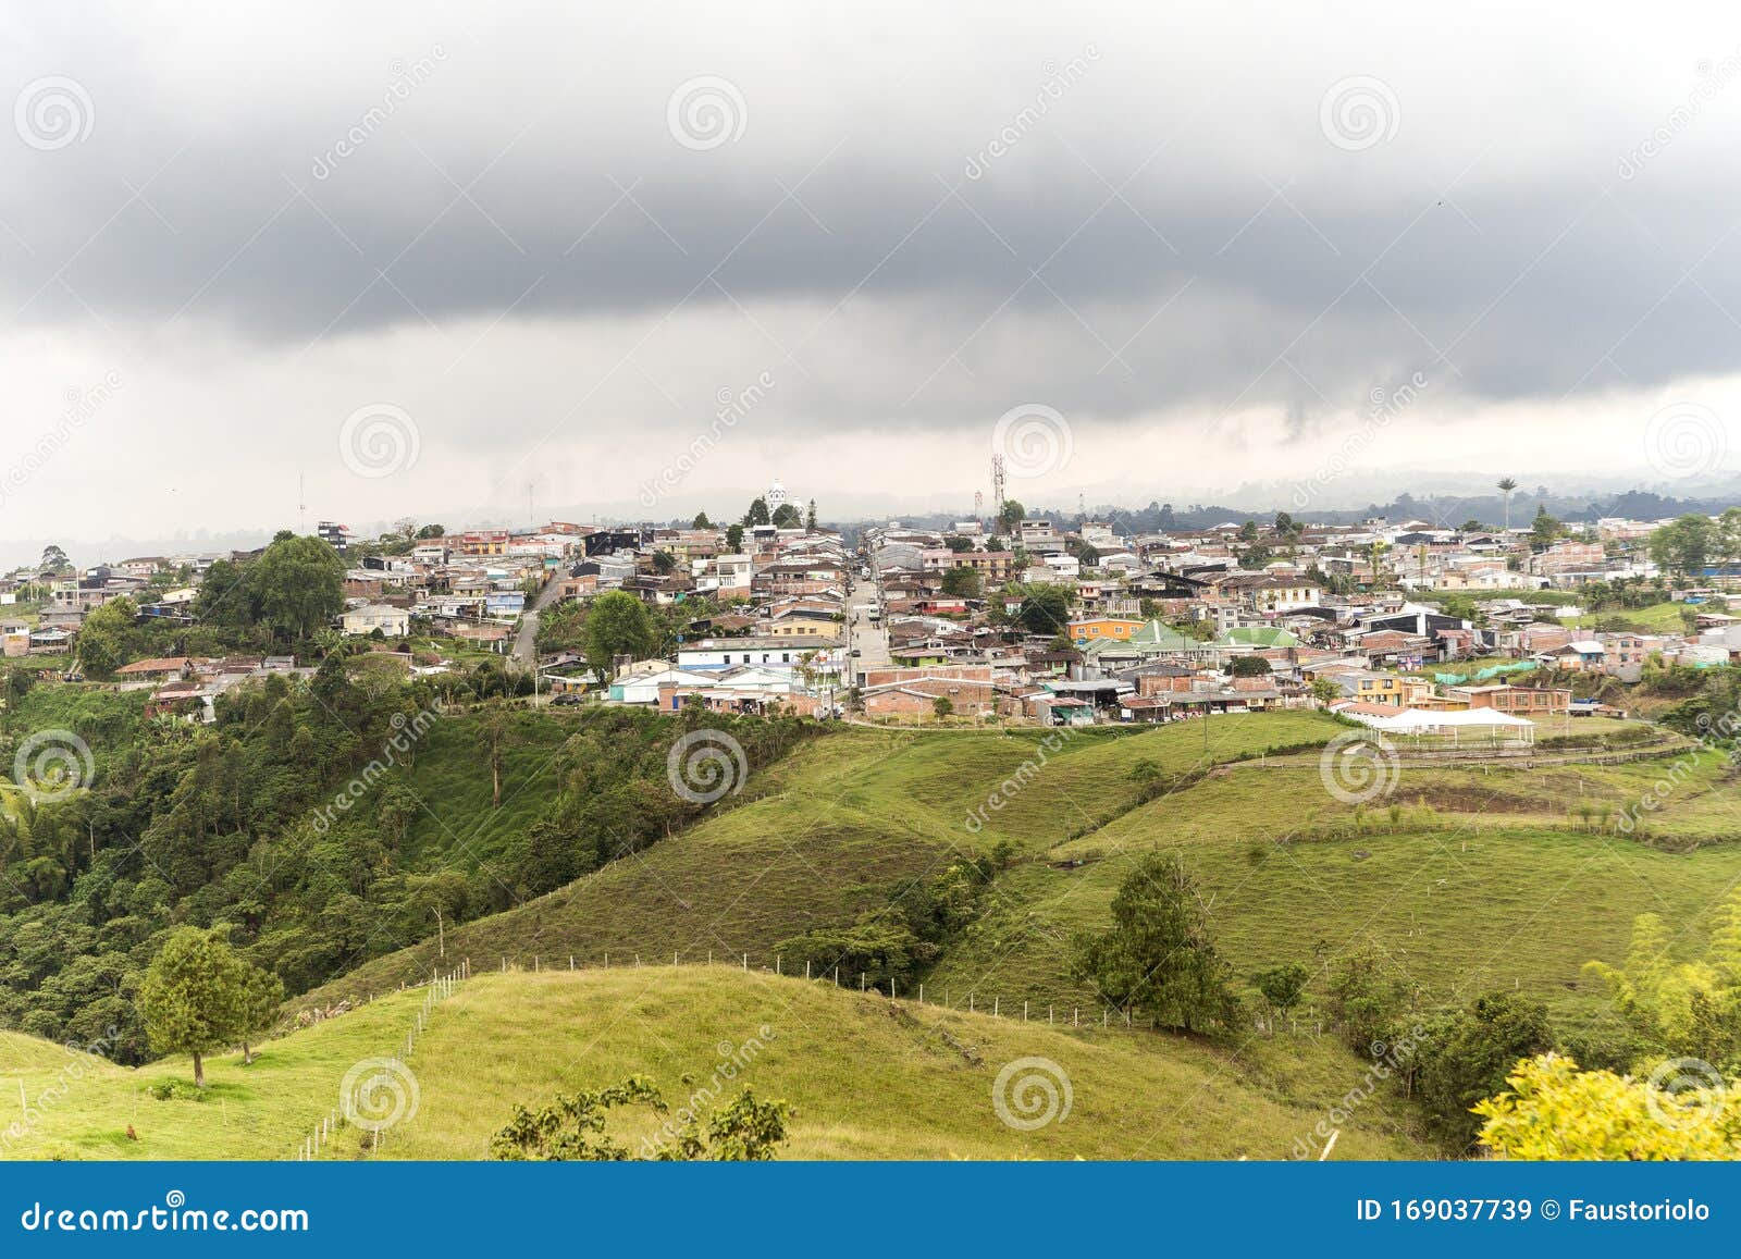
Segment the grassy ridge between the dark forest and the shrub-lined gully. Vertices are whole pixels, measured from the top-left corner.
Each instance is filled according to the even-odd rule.
[[[1339,730],[1309,712],[1229,717],[1210,728],[1212,761],[1321,742]],[[926,876],[956,853],[1008,841],[1038,857],[1118,818],[1144,796],[1132,778],[1139,763],[1154,763],[1163,784],[1205,768],[1200,731],[1165,726],[1048,737],[848,728],[757,775],[757,799],[740,799],[635,857],[449,932],[446,954],[435,940],[423,940],[294,1005],[418,982],[444,956],[529,966],[534,958],[566,965],[569,956],[583,963],[637,953],[705,961],[750,953],[771,965],[776,942],[848,923],[869,900],[886,899],[891,886]],[[1006,798],[1003,808],[987,806],[992,791]],[[968,824],[973,810],[980,810],[977,827]]]

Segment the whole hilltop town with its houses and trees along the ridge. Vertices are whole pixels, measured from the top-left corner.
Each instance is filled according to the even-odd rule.
[[[247,677],[367,651],[414,676],[486,667],[536,704],[1036,726],[1314,707],[1529,744],[1741,651],[1736,515],[1125,533],[1005,502],[944,529],[841,529],[775,482],[729,524],[404,521],[362,540],[324,521],[299,655],[239,613],[261,550],[77,569],[50,547],[0,582],[0,644],[38,679],[148,688],[150,714],[204,723]],[[635,611],[594,618],[601,601]]]

